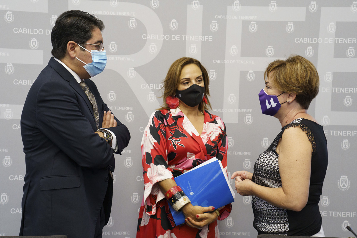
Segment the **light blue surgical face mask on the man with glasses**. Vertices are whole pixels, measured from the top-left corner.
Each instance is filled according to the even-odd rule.
[[[82,47],[81,45],[79,45]],[[84,47],[82,47],[85,49]],[[77,60],[81,61],[83,64],[85,64],[84,69],[88,72],[88,74],[91,77],[96,76],[97,74],[100,74],[103,72],[105,65],[107,64],[107,54],[105,50],[99,51],[99,50],[92,50],[90,52],[89,50],[85,49],[89,53],[92,54],[92,62],[90,64],[86,64],[85,62],[81,61],[76,57]]]

